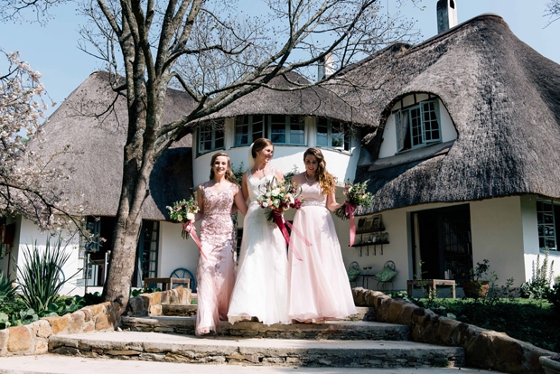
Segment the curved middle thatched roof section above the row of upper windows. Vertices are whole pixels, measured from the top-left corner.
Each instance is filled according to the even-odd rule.
[[[275,77],[269,85],[278,89],[291,89],[295,85],[290,81],[302,85],[309,84],[309,80],[293,71],[286,73],[285,76],[287,79],[284,76]],[[243,115],[316,116],[355,124],[369,123],[369,118],[361,116],[359,111],[341,100],[331,89],[319,86],[294,91],[260,88],[238,98],[228,107],[209,117],[227,118]]]

